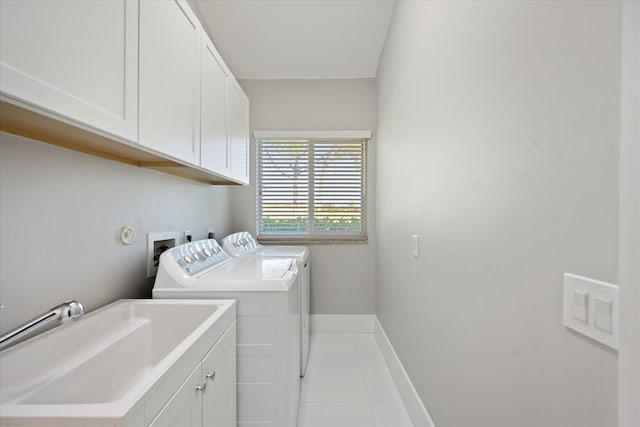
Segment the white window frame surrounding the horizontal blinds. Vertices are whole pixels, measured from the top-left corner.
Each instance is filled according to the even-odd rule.
[[[345,131],[345,132],[254,132],[256,143],[256,238],[260,242],[279,242],[279,243],[367,243],[368,242],[368,142],[371,138],[370,131]],[[261,144],[262,143],[292,143],[309,144],[309,161],[308,161],[308,178],[309,200],[307,217],[309,218],[309,226],[306,232],[283,232],[283,233],[264,233],[262,230],[262,206],[261,199],[262,171],[261,171]],[[358,232],[353,231],[317,231],[312,230],[313,206],[314,206],[314,182],[313,174],[313,146],[319,143],[357,143],[361,144],[362,164],[361,164],[361,180],[360,180],[360,219],[361,229]]]

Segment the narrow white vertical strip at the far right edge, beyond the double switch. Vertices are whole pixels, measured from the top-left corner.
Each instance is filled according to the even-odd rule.
[[[623,7],[618,421],[640,426],[640,3]]]

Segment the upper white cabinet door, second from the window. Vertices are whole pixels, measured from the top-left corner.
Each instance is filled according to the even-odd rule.
[[[200,166],[229,175],[226,67],[203,37],[200,91]]]

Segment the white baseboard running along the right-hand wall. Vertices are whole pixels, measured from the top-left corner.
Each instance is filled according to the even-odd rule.
[[[435,427],[377,317],[374,334],[414,427]]]

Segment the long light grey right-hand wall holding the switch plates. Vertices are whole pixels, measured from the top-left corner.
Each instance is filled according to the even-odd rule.
[[[438,427],[616,425],[616,352],[561,310],[563,272],[618,279],[620,29],[617,2],[396,3],[376,311]]]

